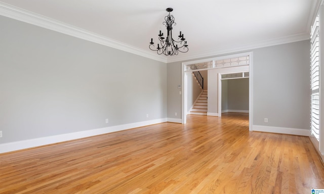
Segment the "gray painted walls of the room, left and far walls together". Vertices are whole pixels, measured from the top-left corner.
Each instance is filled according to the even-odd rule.
[[[3,16],[0,24],[0,143],[181,118],[181,62],[157,62]],[[252,51],[253,124],[308,129],[309,41]]]

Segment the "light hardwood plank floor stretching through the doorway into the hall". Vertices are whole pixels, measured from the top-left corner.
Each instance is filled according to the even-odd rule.
[[[311,193],[324,167],[304,136],[249,131],[248,114],[188,115],[0,155],[0,193]]]

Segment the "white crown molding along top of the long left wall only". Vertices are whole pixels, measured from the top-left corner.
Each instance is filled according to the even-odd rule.
[[[135,46],[120,42],[100,34],[78,28],[43,15],[39,15],[15,6],[11,6],[0,2],[0,15],[6,16],[15,20],[33,24],[39,27],[47,28],[53,31],[61,32],[84,40],[92,41],[98,44],[112,47],[117,50],[125,51],[145,58],[167,63],[167,58],[156,56],[156,54],[139,49]]]

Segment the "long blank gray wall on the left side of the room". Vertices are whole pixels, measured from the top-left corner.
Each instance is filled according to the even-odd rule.
[[[0,24],[0,143],[167,118],[167,64],[3,16]]]

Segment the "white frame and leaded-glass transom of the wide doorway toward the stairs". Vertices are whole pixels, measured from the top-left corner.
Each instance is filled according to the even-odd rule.
[[[243,61],[242,61],[243,60]],[[245,60],[245,61],[244,61]],[[248,72],[249,73],[249,130],[252,131],[253,123],[253,52],[240,53],[235,55],[227,55],[216,58],[209,58],[203,60],[189,61],[182,63],[182,123],[186,123],[187,116],[187,79],[188,76],[191,76],[193,70],[211,70],[208,74],[208,111],[210,116],[221,116],[221,110],[218,105],[219,95],[221,92],[218,92],[220,85],[221,74],[225,73],[237,73],[237,72]],[[217,75],[218,74],[218,78]],[[216,76],[210,76],[216,75]],[[216,77],[216,78],[215,78]],[[216,90],[211,91],[215,86]],[[214,89],[215,89],[214,88]],[[216,95],[216,96],[214,96]],[[211,102],[211,104],[210,104]],[[210,108],[211,107],[211,108]],[[216,108],[216,109],[215,109]]]

